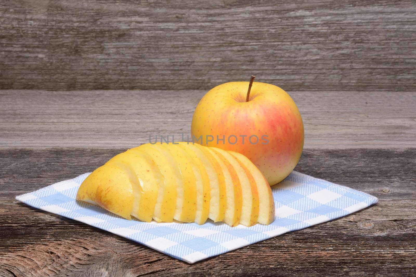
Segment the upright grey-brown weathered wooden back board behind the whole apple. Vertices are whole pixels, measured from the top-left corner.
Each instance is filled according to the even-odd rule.
[[[0,89],[416,91],[413,0],[0,1]]]

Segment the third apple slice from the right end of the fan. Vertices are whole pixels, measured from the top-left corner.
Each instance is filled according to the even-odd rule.
[[[225,178],[227,204],[225,205],[224,222],[229,226],[234,227],[238,225],[241,218],[242,192],[240,179],[228,159],[220,152],[215,151],[214,148],[215,147],[207,147],[206,149],[217,159]]]

